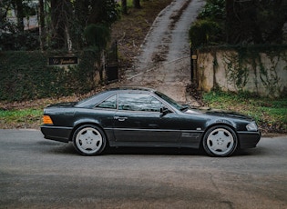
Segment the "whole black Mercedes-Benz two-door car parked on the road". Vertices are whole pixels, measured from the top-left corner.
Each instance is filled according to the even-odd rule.
[[[72,142],[83,155],[106,146],[190,147],[229,156],[258,144],[261,133],[243,114],[192,109],[148,88],[115,88],[77,103],[45,108],[46,139]]]

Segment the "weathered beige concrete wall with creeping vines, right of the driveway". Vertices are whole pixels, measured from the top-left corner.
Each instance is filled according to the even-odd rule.
[[[201,90],[287,95],[287,47],[198,50],[196,81]]]

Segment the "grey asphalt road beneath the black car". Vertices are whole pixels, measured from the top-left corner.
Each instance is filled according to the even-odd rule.
[[[190,149],[85,157],[36,130],[0,130],[0,208],[287,208],[287,136],[212,158]]]

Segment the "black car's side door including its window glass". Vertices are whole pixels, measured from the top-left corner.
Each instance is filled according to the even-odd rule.
[[[179,130],[173,129],[174,114],[163,116],[163,104],[152,95],[119,93],[118,112],[114,116],[117,142],[176,143]]]

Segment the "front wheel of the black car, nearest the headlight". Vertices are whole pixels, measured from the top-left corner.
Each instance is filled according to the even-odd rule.
[[[230,156],[237,149],[238,138],[229,126],[216,125],[204,134],[202,144],[210,156]]]

